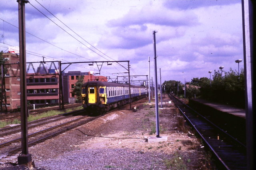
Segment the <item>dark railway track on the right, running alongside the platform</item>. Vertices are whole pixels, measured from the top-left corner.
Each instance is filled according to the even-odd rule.
[[[204,143],[212,150],[220,169],[246,169],[246,146],[241,141],[174,96],[169,95],[169,97],[194,127]]]

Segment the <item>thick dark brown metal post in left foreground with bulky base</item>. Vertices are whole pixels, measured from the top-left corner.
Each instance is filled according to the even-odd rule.
[[[26,31],[25,3],[18,0],[19,46],[20,46],[20,120],[22,154],[18,156],[18,164],[31,164],[32,155],[28,153],[28,120],[27,120],[27,83],[26,83]]]

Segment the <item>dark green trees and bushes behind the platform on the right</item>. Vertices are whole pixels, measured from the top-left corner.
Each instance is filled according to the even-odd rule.
[[[221,76],[222,75],[222,76]],[[238,71],[214,70],[210,78],[193,78],[191,82],[186,82],[186,98],[202,98],[212,102],[229,104],[237,107],[245,107],[245,82],[244,69]],[[184,98],[184,84],[180,81],[165,81],[166,93],[174,93]]]

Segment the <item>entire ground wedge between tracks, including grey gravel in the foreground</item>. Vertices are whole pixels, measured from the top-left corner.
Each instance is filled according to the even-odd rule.
[[[160,135],[168,141],[148,143],[155,136],[154,103],[140,100],[134,112],[119,108],[30,147],[35,170],[192,170],[215,169],[178,109],[164,98]],[[0,170],[25,170],[17,156],[0,160]],[[32,167],[30,169],[33,169]]]

